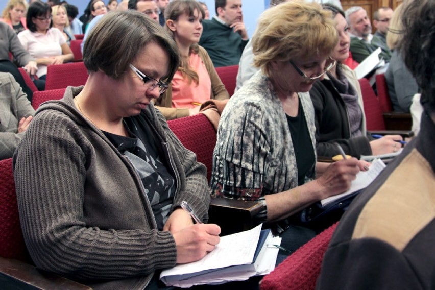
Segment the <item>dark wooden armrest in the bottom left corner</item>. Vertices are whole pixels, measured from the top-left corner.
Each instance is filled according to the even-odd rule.
[[[0,284],[7,289],[92,289],[56,274],[39,270],[30,264],[2,257],[0,257]]]

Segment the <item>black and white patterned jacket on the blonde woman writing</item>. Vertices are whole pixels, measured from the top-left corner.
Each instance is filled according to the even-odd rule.
[[[316,175],[316,127],[309,93],[298,93],[312,150],[305,182]],[[312,152],[310,152],[312,154]],[[258,71],[222,113],[213,152],[212,196],[261,202],[256,217],[267,220],[264,196],[298,186],[298,167],[286,114],[270,80]]]

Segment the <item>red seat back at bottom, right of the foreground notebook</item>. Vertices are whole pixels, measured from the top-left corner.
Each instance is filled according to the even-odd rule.
[[[323,256],[337,223],[330,226],[261,280],[261,290],[313,290],[322,268]]]

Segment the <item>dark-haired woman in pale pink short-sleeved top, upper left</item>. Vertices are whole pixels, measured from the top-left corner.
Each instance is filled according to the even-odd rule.
[[[45,88],[47,66],[62,64],[74,60],[62,32],[52,28],[52,8],[50,5],[36,1],[29,5],[26,16],[27,28],[18,34],[18,39],[25,50],[36,59],[38,70],[35,81],[39,90]]]

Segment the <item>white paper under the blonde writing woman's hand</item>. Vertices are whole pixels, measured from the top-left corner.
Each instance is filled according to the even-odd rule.
[[[343,192],[343,194],[332,196],[326,199],[321,200],[322,206],[325,206],[333,201],[341,199],[342,197],[348,196],[350,194],[354,194],[362,189],[366,188],[373,180],[381,173],[383,168],[386,165],[380,159],[373,160],[372,164],[370,164],[368,171],[360,171],[356,175],[356,179],[352,181],[350,188],[348,191]]]

